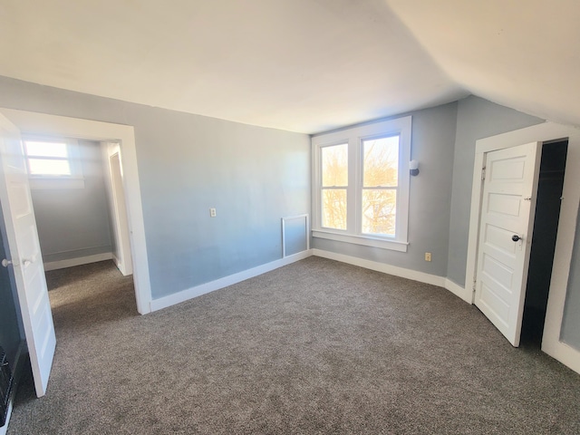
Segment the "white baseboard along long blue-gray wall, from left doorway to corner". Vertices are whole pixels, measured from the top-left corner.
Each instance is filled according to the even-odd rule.
[[[246,281],[247,279],[253,278],[257,275],[266,274],[266,272],[271,272],[278,267],[290,265],[309,256],[312,256],[312,251],[310,249],[299,252],[293,256],[285,256],[284,258],[280,258],[279,260],[275,260],[271,263],[266,263],[266,265],[247,269],[234,275],[224,276],[223,278],[219,278],[206,284],[196,285],[195,287],[188,288],[187,290],[183,290],[173,295],[154,299],[150,304],[151,312],[160,310],[162,308],[167,308],[171,305],[180,304],[181,302],[188,301],[189,299],[193,299],[194,297],[198,297],[200,295],[206,295],[207,293],[227,287],[228,285],[234,285],[242,281]]]

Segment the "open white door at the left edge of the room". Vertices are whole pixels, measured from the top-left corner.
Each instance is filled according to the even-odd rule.
[[[46,392],[56,336],[20,131],[0,115],[0,203],[36,395]]]

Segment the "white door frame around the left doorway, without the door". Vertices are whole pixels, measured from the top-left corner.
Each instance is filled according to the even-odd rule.
[[[65,116],[16,111],[0,108],[0,112],[24,133],[56,135],[87,140],[111,141],[121,144],[125,198],[131,236],[131,257],[135,299],[140,314],[151,312],[149,261],[143,223],[135,132],[131,125],[82,120]]]

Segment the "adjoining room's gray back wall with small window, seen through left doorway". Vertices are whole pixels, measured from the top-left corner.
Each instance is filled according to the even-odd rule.
[[[118,243],[101,143],[25,133],[22,139],[44,271],[111,259]]]

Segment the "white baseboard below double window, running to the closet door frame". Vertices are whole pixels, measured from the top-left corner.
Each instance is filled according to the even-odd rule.
[[[343,263],[348,263],[353,266],[364,267],[365,269],[375,270],[377,272],[382,272],[383,274],[401,276],[401,278],[412,279],[413,281],[419,281],[420,283],[437,285],[446,288],[453,295],[458,296],[466,302],[471,304],[471,301],[466,298],[465,289],[460,285],[455,284],[453,281],[449,280],[445,276],[430,275],[424,272],[419,272],[417,270],[407,269],[405,267],[385,265],[384,263],[379,263],[372,260],[365,260],[364,258],[359,258],[357,256],[345,256],[343,254],[337,254],[335,252],[324,251],[322,249],[312,249],[313,256],[322,256],[331,260],[340,261]]]

